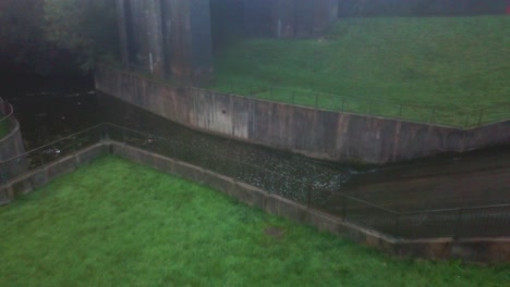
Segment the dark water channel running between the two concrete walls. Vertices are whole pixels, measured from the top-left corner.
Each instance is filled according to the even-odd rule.
[[[90,87],[32,91],[8,100],[14,105],[27,149],[110,122],[171,139],[182,147],[183,160],[302,202],[311,186],[329,191],[320,194],[321,204],[327,204],[335,192],[342,192],[398,211],[510,202],[510,146],[384,166],[359,166],[199,133],[96,93]],[[242,171],[236,167],[241,165],[254,169]],[[268,173],[272,175],[268,177]]]

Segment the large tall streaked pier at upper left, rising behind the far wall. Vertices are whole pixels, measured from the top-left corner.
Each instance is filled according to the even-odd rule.
[[[124,62],[183,84],[212,78],[209,0],[117,0]]]

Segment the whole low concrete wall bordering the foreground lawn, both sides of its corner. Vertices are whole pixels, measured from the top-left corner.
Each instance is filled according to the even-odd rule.
[[[105,154],[123,157],[159,171],[205,184],[239,199],[250,207],[260,208],[274,215],[298,223],[309,224],[319,230],[341,235],[397,257],[462,259],[489,263],[510,262],[510,238],[398,240],[374,230],[361,228],[329,214],[308,209],[305,205],[268,194],[256,187],[239,183],[233,178],[114,141],[97,144],[0,186],[0,204],[9,203],[16,196],[28,194],[46,185],[54,177],[70,173],[81,164]]]

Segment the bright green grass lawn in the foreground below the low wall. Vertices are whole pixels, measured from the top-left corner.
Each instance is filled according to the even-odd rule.
[[[102,158],[0,208],[0,286],[508,286],[508,265],[393,260]]]

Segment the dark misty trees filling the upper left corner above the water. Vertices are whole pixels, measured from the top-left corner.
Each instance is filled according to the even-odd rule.
[[[113,1],[0,0],[3,73],[84,71],[117,49]]]

